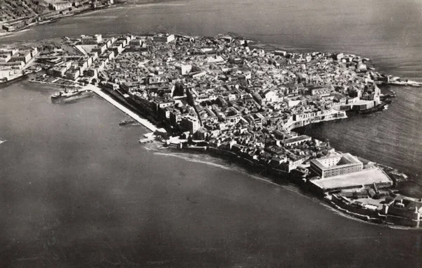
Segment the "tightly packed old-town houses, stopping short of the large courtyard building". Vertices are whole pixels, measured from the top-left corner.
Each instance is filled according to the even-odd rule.
[[[172,134],[283,170],[332,150],[291,129],[380,102],[366,58],[265,51],[229,36],[127,38],[124,53],[98,71],[108,88]]]

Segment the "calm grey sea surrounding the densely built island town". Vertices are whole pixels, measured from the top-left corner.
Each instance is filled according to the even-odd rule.
[[[281,3],[282,2],[282,3]],[[237,32],[290,49],[350,51],[422,79],[420,1],[170,1],[41,25],[0,43],[155,28]],[[421,89],[383,113],[312,127],[342,151],[422,174]],[[0,267],[422,267],[422,231],[338,215],[226,163],[148,151],[143,127],[94,97],[57,106],[0,89]]]

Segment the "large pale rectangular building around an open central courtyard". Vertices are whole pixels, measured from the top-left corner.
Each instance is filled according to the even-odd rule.
[[[364,164],[350,153],[331,155],[311,160],[310,171],[321,178],[361,171]]]

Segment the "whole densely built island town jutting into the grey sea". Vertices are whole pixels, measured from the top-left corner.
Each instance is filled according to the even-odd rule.
[[[209,153],[367,222],[419,227],[422,200],[397,193],[406,175],[300,134],[318,122],[376,113],[419,82],[384,75],[350,53],[298,53],[236,34],[82,35],[0,50],[5,83],[52,84],[53,103],[97,94],[151,131],[140,143]]]

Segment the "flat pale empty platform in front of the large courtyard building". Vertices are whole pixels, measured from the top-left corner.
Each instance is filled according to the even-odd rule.
[[[361,170],[359,172],[353,172],[324,179],[314,179],[311,182],[319,188],[324,189],[324,191],[329,191],[330,189],[349,188],[352,186],[359,187],[373,183],[392,184],[392,180],[379,167],[373,167],[367,170]]]

